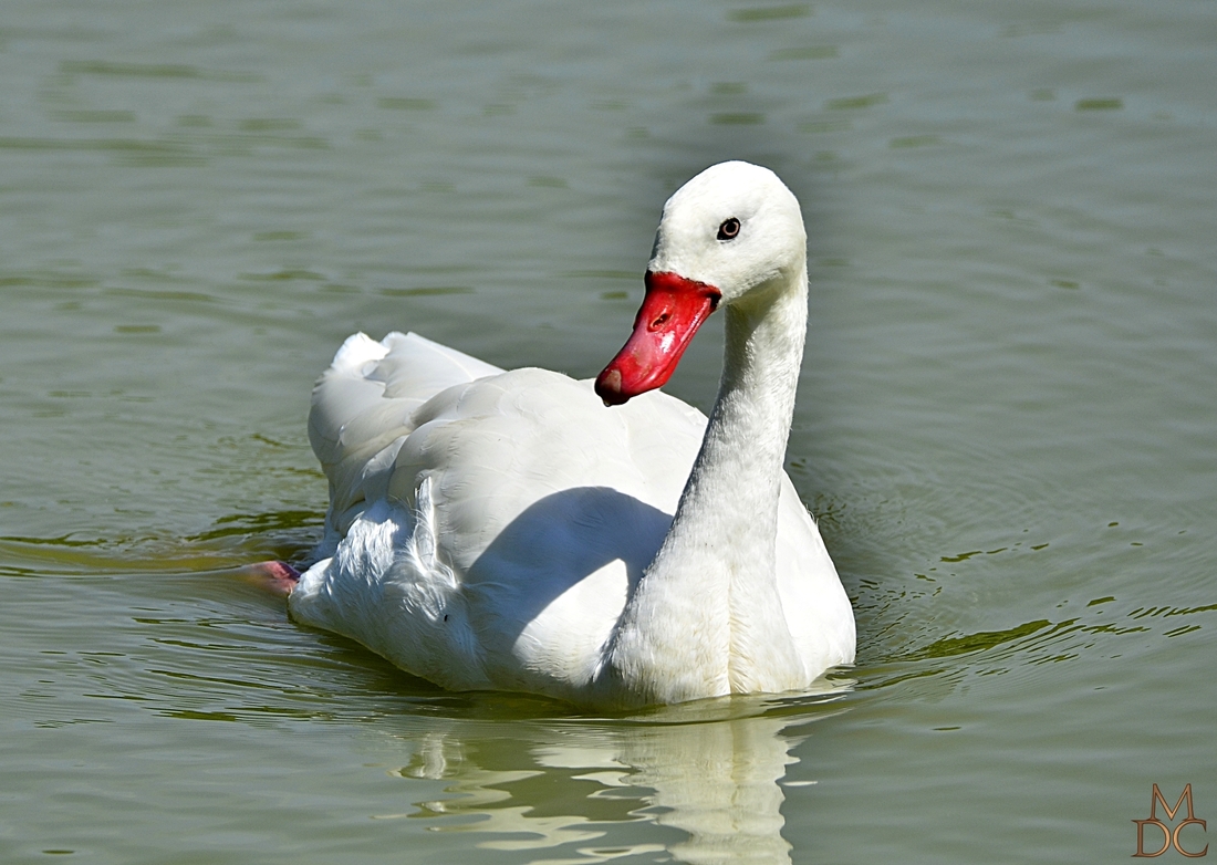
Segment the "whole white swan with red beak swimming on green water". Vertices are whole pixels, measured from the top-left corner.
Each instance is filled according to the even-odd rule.
[[[664,204],[633,333],[594,382],[349,337],[313,392],[330,509],[292,618],[449,690],[596,707],[803,690],[852,663],[849,600],[783,470],[806,247],[781,180],[725,162]],[[657,388],[719,307],[707,421]]]

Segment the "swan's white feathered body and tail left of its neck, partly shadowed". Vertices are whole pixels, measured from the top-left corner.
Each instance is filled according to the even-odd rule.
[[[667,394],[607,409],[590,381],[357,335],[314,394],[331,549],[293,614],[448,687],[566,683],[573,696],[671,526],[705,426]]]

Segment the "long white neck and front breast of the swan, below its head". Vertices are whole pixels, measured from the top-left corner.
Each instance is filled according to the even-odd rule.
[[[797,685],[776,579],[778,496],[807,324],[807,276],[727,308],[718,399],[672,528],[611,652],[647,700]]]

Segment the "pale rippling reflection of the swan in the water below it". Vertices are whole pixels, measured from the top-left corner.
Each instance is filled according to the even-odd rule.
[[[444,780],[409,816],[476,832],[522,861],[587,863],[667,850],[674,860],[789,863],[783,779],[812,721],[841,709],[825,685],[797,701],[731,698],[612,720],[501,725],[431,719],[404,734],[392,774]],[[800,783],[811,783],[801,781]],[[534,852],[531,858],[528,852]]]

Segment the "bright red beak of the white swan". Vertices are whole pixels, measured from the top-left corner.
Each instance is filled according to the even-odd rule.
[[[634,332],[596,377],[596,395],[605,405],[621,405],[662,387],[720,297],[718,288],[705,282],[647,270],[646,297],[634,319]]]

